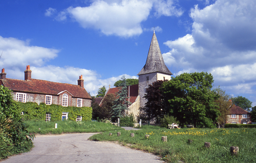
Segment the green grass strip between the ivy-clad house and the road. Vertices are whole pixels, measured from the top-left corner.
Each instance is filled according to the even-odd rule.
[[[57,123],[57,128],[55,128]],[[44,121],[44,120],[28,120],[25,121],[29,133],[34,134],[61,134],[61,133],[92,133],[124,130],[123,128],[112,125],[111,123],[97,121]],[[39,130],[40,128],[40,130]]]

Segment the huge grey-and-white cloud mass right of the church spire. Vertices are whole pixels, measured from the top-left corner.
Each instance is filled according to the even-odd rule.
[[[190,13],[192,33],[164,43],[171,49],[163,54],[166,65],[183,69],[176,74],[207,71],[214,85],[232,94],[255,93],[255,7],[254,0],[196,5]]]

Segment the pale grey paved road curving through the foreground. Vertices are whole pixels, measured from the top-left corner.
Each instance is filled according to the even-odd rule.
[[[109,142],[87,139],[93,134],[41,135],[27,153],[12,156],[1,163],[162,163],[150,153]]]

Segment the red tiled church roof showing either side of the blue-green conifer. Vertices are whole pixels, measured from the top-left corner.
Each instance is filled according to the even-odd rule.
[[[119,89],[121,89],[121,87],[110,88],[110,89],[108,89],[107,94],[113,93],[116,96],[116,93],[119,91]],[[127,92],[128,92],[128,90],[129,90],[129,88],[127,86]],[[128,97],[128,95],[129,95],[129,92],[127,93],[127,97]],[[129,101],[131,103],[134,103],[136,98],[138,97],[138,95],[139,95],[139,84],[131,85],[130,86],[130,99],[129,99]],[[126,100],[128,101],[128,99],[126,99]]]

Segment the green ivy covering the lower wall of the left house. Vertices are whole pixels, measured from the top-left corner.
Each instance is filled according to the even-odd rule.
[[[68,112],[68,119],[76,121],[77,115],[82,116],[82,121],[92,120],[92,107],[75,107],[75,106],[61,106],[61,105],[46,105],[44,103],[37,104],[34,102],[16,102],[21,117],[24,120],[45,120],[45,114],[51,114],[51,120],[61,120],[62,112]]]

